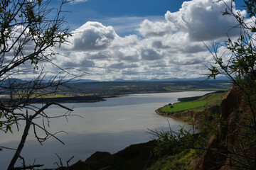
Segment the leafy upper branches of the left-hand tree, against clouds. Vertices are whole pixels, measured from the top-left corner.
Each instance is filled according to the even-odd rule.
[[[57,13],[55,19],[48,19],[48,13],[50,13],[50,9],[47,8],[48,3],[49,1],[25,0],[6,0],[0,3],[0,88],[1,94],[9,94],[9,108],[11,108],[6,108],[6,103],[1,103],[1,111],[6,118],[1,121],[3,124],[1,130],[17,122],[16,115],[12,113],[13,109],[26,106],[32,94],[49,86],[58,86],[58,83],[53,83],[54,78],[47,83],[42,82],[46,77],[46,72],[43,70],[32,81],[21,82],[13,78],[29,72],[21,69],[26,62],[30,62],[31,66],[37,70],[38,62],[50,62],[49,57],[55,52],[46,52],[46,50],[60,45],[69,35],[66,28],[61,29],[63,18],[59,18],[60,13]],[[27,48],[31,51],[27,52],[25,50]],[[16,95],[20,100],[14,100]],[[21,101],[25,98],[26,102]],[[14,101],[17,104],[14,104]]]

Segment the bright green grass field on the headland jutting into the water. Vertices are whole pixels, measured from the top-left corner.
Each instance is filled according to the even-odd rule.
[[[174,103],[171,106],[164,106],[161,108],[163,112],[177,112],[177,111],[186,111],[191,108],[199,108],[206,105],[207,101],[186,101],[180,103]]]

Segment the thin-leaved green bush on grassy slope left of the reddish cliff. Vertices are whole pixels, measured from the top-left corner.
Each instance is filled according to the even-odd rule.
[[[207,147],[212,131],[198,133],[194,127],[192,130],[181,128],[179,132],[150,130],[157,142],[154,154],[160,159],[149,169],[191,169],[191,163],[202,154],[198,148]]]

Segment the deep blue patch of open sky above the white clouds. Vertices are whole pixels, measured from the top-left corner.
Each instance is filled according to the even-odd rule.
[[[55,1],[55,4],[59,4]],[[78,28],[87,21],[99,21],[106,26],[124,26],[124,21],[117,21],[114,18],[126,17],[130,18],[125,22],[129,30],[119,30],[119,35],[127,35],[136,33],[134,24],[142,22],[146,18],[154,20],[164,20],[166,11],[178,11],[183,1],[157,1],[157,0],[141,0],[141,1],[124,1],[124,0],[88,0],[80,3],[68,4],[64,6],[65,20],[71,29]],[[132,28],[131,28],[132,26]]]

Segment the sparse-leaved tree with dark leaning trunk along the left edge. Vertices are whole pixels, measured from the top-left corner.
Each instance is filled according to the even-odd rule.
[[[53,76],[48,75],[48,71],[45,70],[46,64],[52,64],[58,68],[51,62],[51,57],[57,55],[53,47],[60,47],[70,36],[68,28],[63,27],[64,21],[61,14],[62,6],[67,2],[61,1],[60,8],[57,9],[50,8],[48,0],[0,1],[0,94],[9,97],[8,100],[0,102],[0,130],[13,132],[16,127],[19,131],[23,125],[22,122],[26,124],[21,141],[9,164],[9,170],[16,169],[14,164],[18,158],[23,162],[22,168],[18,167],[19,169],[33,169],[41,166],[27,166],[25,159],[21,157],[21,150],[31,127],[38,142],[55,137],[47,130],[49,120],[53,117],[44,113],[46,108],[57,105],[68,111],[54,118],[68,116],[70,111],[73,111],[53,102],[46,103],[42,107],[31,104],[33,98],[55,93],[58,86],[65,85],[69,81],[63,81],[70,76],[65,69],[59,68],[59,72]],[[32,75],[31,80],[16,79],[24,74]],[[70,77],[73,79],[77,76]],[[34,122],[35,118],[41,118],[41,124]],[[38,135],[38,130],[43,130],[46,135]],[[57,137],[55,138],[58,140]]]

